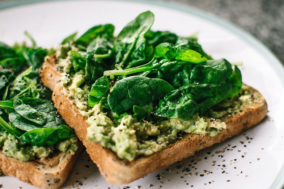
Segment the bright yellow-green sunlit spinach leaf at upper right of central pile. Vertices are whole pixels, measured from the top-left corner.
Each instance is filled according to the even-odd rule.
[[[175,47],[170,43],[161,43],[155,48],[156,58],[167,58],[175,60],[183,60],[193,63],[201,63],[207,59],[198,52],[187,49],[185,47]]]

